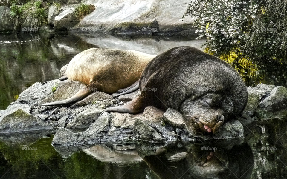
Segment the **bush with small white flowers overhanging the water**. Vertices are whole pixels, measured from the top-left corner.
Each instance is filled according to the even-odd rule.
[[[276,50],[280,49],[286,53],[286,40],[282,40],[280,36],[286,35],[287,24],[282,21],[287,21],[286,9],[284,10],[287,1],[278,0],[277,4],[274,2],[276,1],[195,0],[188,6],[182,19],[186,16],[196,18],[194,27],[198,29],[198,38],[209,39],[205,45],[214,55],[229,51],[242,53],[240,49],[253,49],[258,53],[262,50],[278,53]],[[278,16],[284,18],[280,20]],[[278,29],[278,24],[283,29]]]

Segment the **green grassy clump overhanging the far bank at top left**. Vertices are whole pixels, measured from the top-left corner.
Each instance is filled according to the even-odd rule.
[[[27,23],[32,28],[38,29],[43,24],[47,24],[48,21],[42,2],[42,0],[31,0],[23,5],[14,3],[10,6],[10,15],[17,18],[21,24]]]

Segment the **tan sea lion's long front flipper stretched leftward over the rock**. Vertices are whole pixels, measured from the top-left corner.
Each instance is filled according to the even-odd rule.
[[[62,101],[55,101],[51,103],[45,103],[42,104],[42,106],[53,106],[53,105],[61,105],[61,104],[69,104],[75,101],[79,101],[83,98],[85,98],[87,95],[91,94],[93,91],[87,90],[87,88],[84,88],[83,90],[78,91],[76,94],[74,94],[71,98],[68,98],[66,100]]]

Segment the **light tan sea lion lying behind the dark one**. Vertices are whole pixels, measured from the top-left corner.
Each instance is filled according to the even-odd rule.
[[[61,105],[80,99],[94,91],[126,94],[138,89],[138,80],[146,64],[156,55],[135,50],[91,48],[77,54],[68,64],[67,75],[60,80],[77,80],[87,87],[69,99],[42,104]],[[132,85],[133,84],[133,85]],[[132,85],[132,86],[131,86]],[[131,86],[130,88],[127,88]],[[126,88],[126,89],[123,89]],[[121,90],[120,90],[121,89]]]

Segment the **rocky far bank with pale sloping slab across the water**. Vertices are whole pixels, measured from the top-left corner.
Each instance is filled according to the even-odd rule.
[[[26,3],[23,1],[22,3]],[[50,3],[50,2],[49,2]],[[49,37],[55,33],[117,33],[195,36],[194,19],[180,21],[186,2],[162,1],[53,1],[46,11],[47,25],[33,29],[12,18],[9,5],[0,6],[0,32],[40,32]],[[95,10],[83,19],[75,16],[79,4],[89,4]],[[21,27],[20,27],[21,26]],[[31,30],[30,30],[31,29]]]

